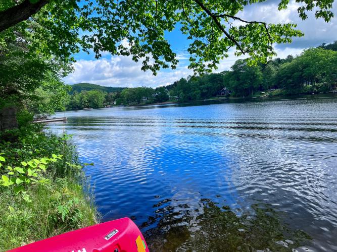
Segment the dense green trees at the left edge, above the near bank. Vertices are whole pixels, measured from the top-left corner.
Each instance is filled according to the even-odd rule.
[[[0,108],[21,103],[36,113],[62,110],[68,87],[61,78],[72,67],[59,57],[29,50],[31,40],[23,31],[0,46]]]

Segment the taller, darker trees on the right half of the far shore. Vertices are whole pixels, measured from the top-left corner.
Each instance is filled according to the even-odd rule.
[[[238,59],[231,71],[180,79],[166,86],[181,101],[207,99],[226,88],[231,96],[254,96],[256,92],[305,94],[331,91],[337,82],[337,41],[304,50],[294,57],[275,58],[267,64],[249,65]],[[273,93],[270,93],[272,95]]]

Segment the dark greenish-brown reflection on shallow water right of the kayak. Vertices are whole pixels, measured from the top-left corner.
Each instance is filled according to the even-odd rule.
[[[220,208],[210,199],[201,199],[199,208],[188,204],[167,205],[171,200],[154,207],[156,216],[142,228],[158,221],[145,238],[151,251],[292,251],[311,237],[301,230],[291,230],[281,224],[270,205],[255,204],[251,213],[239,215],[228,206]]]

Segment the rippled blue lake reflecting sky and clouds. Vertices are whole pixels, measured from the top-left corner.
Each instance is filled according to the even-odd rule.
[[[337,250],[337,99],[58,113],[102,221],[153,251]]]

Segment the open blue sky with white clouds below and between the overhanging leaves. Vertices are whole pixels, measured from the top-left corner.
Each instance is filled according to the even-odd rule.
[[[288,9],[283,11],[277,11],[279,1],[267,0],[254,4],[246,7],[243,12],[237,15],[246,20],[298,24],[298,29],[302,30],[305,36],[294,38],[290,44],[275,45],[278,57],[285,57],[288,54],[296,55],[305,48],[337,40],[336,17],[329,23],[325,23],[322,19],[316,20],[314,12],[311,12],[308,19],[302,21],[297,13],[299,5],[295,3],[295,0],[292,0]],[[337,15],[337,3],[333,3],[332,12]],[[88,82],[111,87],[158,87],[172,84],[175,80],[192,74],[187,69],[189,55],[186,49],[189,41],[179,29],[167,32],[165,35],[171,48],[178,54],[179,64],[176,70],[161,70],[157,76],[153,76],[151,72],[141,71],[141,63],[133,62],[128,56],[112,56],[110,53],[104,52],[102,58],[95,59],[94,54],[88,55],[80,52],[74,55],[77,60],[74,64],[74,72],[64,78],[64,81],[67,84]],[[216,72],[229,70],[237,59],[238,57],[234,56],[234,51],[229,51],[229,57],[220,62]]]

